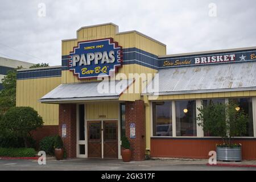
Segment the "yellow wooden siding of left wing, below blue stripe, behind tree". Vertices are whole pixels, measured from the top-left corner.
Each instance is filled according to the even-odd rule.
[[[33,107],[42,116],[44,125],[59,125],[59,105],[42,104],[38,100],[61,84],[61,77],[16,81],[16,106]]]

